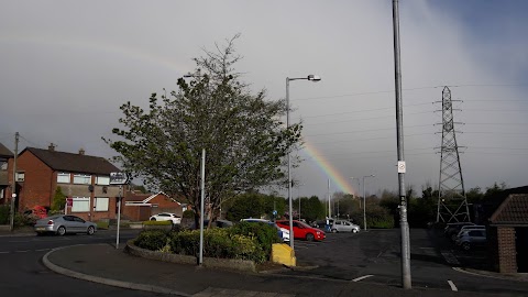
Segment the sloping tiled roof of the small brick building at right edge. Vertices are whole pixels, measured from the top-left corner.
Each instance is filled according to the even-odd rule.
[[[501,224],[528,224],[528,194],[510,194],[490,221]]]

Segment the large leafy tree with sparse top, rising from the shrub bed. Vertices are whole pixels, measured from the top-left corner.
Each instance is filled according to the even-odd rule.
[[[105,141],[125,170],[151,189],[185,197],[200,210],[200,163],[206,151],[206,201],[213,213],[240,193],[284,185],[284,158],[299,145],[300,124],[286,128],[284,100],[252,92],[234,70],[233,42],[195,58],[197,68],[169,95],[153,94],[147,110],[121,106],[121,128]]]

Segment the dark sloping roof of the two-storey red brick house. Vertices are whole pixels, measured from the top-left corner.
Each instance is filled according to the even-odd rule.
[[[113,164],[111,164],[108,160],[103,157],[42,150],[35,147],[25,147],[20,153],[20,155],[24,154],[25,152],[31,152],[52,169],[58,172],[101,175],[109,175],[110,173],[120,172],[118,167],[116,167]]]

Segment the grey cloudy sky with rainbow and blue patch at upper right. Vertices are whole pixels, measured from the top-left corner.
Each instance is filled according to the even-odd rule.
[[[307,147],[294,197],[397,190],[392,1],[6,1],[0,10],[0,142],[101,141],[130,100],[175,89],[193,57],[237,33],[238,70],[270,99],[292,81]],[[400,1],[405,180],[438,187],[443,86],[452,91],[465,188],[528,185],[528,1]],[[341,180],[341,183],[340,183]]]

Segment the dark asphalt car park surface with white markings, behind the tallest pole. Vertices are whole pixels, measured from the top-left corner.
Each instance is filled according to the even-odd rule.
[[[432,230],[413,229],[410,241],[414,287],[527,296],[528,282],[477,276],[453,268],[463,263],[479,266],[479,262],[486,261],[482,252],[460,252]],[[330,233],[323,242],[296,241],[295,248],[299,264],[317,267],[286,274],[402,284],[399,229]]]

